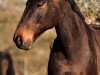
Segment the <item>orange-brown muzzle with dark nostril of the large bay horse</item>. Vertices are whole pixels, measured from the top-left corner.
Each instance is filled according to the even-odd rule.
[[[33,42],[34,34],[30,31],[17,30],[13,37],[16,46],[23,50],[29,50]]]

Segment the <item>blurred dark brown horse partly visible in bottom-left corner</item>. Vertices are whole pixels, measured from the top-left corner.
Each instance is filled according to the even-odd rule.
[[[15,75],[11,55],[0,52],[0,75]]]

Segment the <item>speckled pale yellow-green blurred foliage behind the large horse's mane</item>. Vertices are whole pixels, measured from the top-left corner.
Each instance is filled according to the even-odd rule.
[[[85,14],[95,14],[100,17],[100,0],[76,0],[81,11]]]

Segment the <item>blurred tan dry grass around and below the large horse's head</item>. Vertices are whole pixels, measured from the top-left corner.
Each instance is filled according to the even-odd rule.
[[[47,75],[50,44],[56,37],[54,29],[38,38],[29,51],[18,49],[12,41],[24,7],[22,0],[9,0],[7,8],[0,9],[0,51],[11,53],[16,75]]]

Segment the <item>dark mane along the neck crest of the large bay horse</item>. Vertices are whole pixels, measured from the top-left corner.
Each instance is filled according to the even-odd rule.
[[[74,0],[66,0],[71,5],[72,10],[79,15],[82,20],[85,20],[83,14],[81,13],[80,9],[78,8],[76,2]]]

